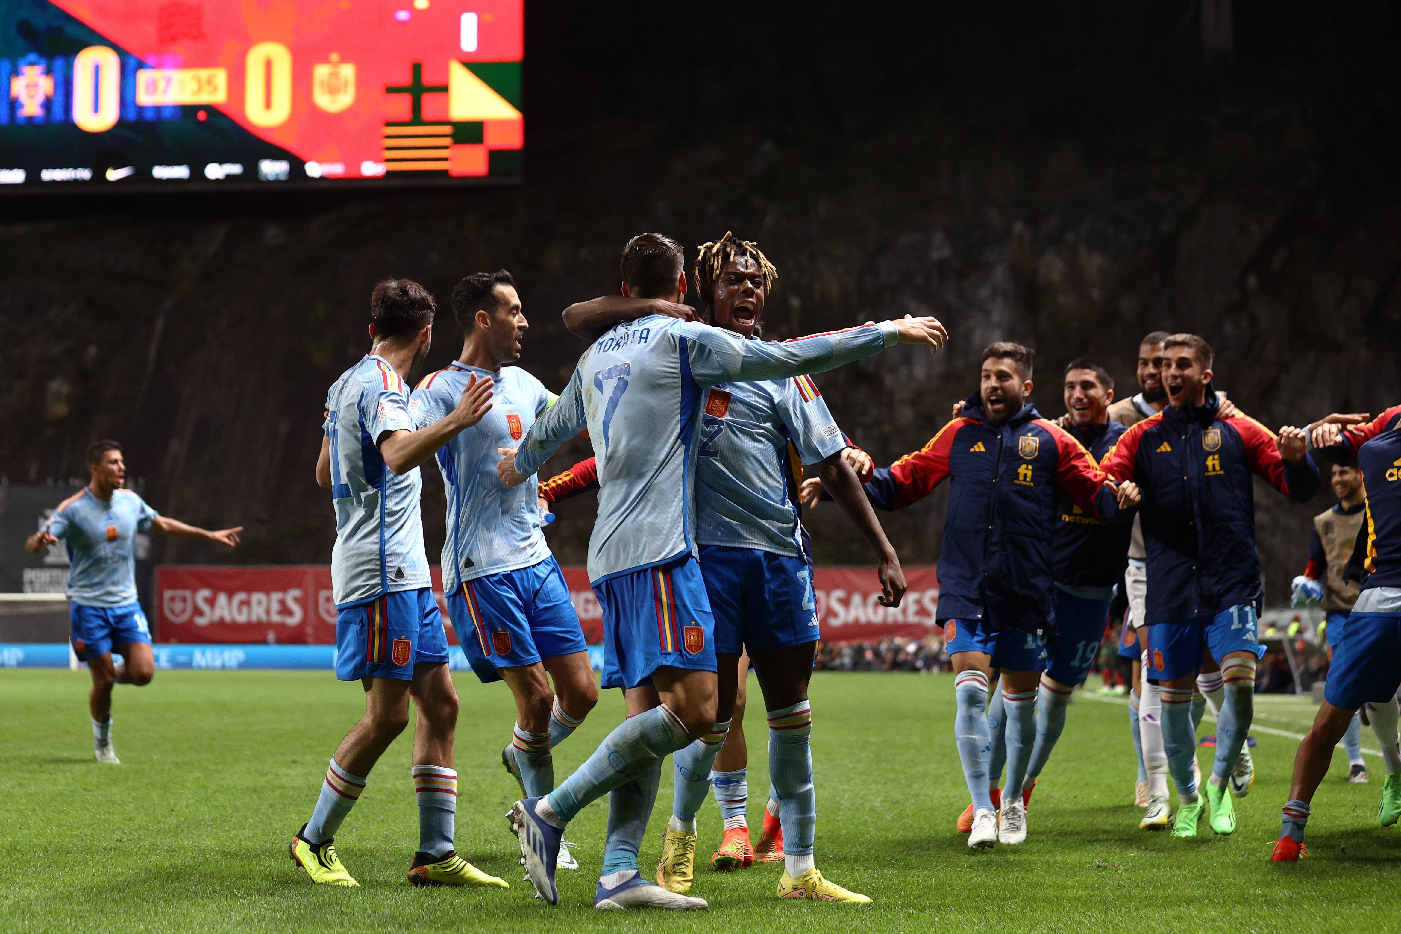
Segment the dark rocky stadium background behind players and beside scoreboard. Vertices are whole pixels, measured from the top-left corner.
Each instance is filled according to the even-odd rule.
[[[1401,7],[1236,0],[1208,60],[1199,1],[530,0],[520,186],[6,197],[0,475],[85,476],[85,445],[116,437],[157,508],[248,527],[233,560],[326,562],[321,409],[366,351],[375,280],[446,307],[464,273],[509,267],[524,361],[558,389],[583,349],[559,311],[615,290],[643,230],[691,255],[726,230],[757,239],[780,272],[771,336],[943,318],[939,358],[818,379],[881,463],[947,420],[993,339],[1037,347],[1048,416],[1080,353],[1135,392],[1159,328],[1213,342],[1217,385],[1272,428],[1377,412],[1401,389]],[[430,363],[460,340],[441,315]],[[1331,501],[1257,497],[1274,605]],[[906,563],[937,557],[943,504],[885,517]],[[560,508],[563,562],[591,518]],[[811,527],[821,562],[867,560],[838,517]],[[230,560],[165,539],[153,559]]]

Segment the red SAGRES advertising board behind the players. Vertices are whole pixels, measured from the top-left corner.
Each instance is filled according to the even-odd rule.
[[[602,608],[580,566],[565,567],[569,597],[584,637],[602,641]],[[877,602],[881,588],[870,567],[818,567],[817,618],[824,641],[876,641],[887,636],[922,639],[934,627],[939,578],[933,566],[905,569],[909,590],[897,608]],[[444,622],[443,577],[433,569],[433,591]],[[446,626],[448,643],[457,644]],[[336,605],[331,569],[279,567],[156,569],[156,639],[161,643],[333,644]]]

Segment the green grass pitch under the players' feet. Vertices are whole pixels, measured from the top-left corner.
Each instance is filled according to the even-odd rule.
[[[510,891],[413,889],[417,842],[409,735],[389,749],[338,835],[361,888],[321,888],[287,858],[342,735],[363,711],[329,672],[160,672],[119,686],[120,766],[91,755],[87,674],[0,672],[0,927],[11,931],[577,931],[577,930],[1395,930],[1401,833],[1376,826],[1373,781],[1346,784],[1341,749],[1314,800],[1296,865],[1269,861],[1297,742],[1259,734],[1257,780],[1233,837],[1174,840],[1136,828],[1133,751],[1119,703],[1077,696],[1020,847],[969,854],[954,819],[967,804],[953,741],[953,679],[818,674],[813,681],[817,864],[874,906],[775,899],[780,867],[709,870],[720,840],[700,811],[702,913],[644,919],[593,910],[604,802],[569,828],[583,870],[560,872],[560,905],[534,900],[502,815],[516,784],[499,756],[514,716],[502,685],[458,676],[457,844]],[[768,787],[765,723],[751,683],[750,816]],[[1307,699],[1261,697],[1259,721],[1303,732]],[[619,692],[555,752],[562,780],[622,717]],[[1209,732],[1205,724],[1202,732]],[[1373,745],[1370,734],[1366,744]],[[1210,751],[1199,751],[1209,769]],[[670,811],[671,770],[643,846],[651,875]]]

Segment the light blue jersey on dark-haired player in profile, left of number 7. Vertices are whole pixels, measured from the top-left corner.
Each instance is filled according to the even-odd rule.
[[[490,377],[492,409],[437,452],[447,493],[447,541],[443,543],[443,588],[485,574],[514,571],[549,557],[539,531],[538,486],[532,476],[507,490],[496,476],[500,448],[514,448],[549,406],[545,385],[520,367],[497,371],[454,361],[419,382],[409,402],[422,428],[457,407],[468,378]]]

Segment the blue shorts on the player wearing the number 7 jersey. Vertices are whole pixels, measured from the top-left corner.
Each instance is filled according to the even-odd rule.
[[[664,665],[716,669],[715,618],[691,555],[607,577],[594,594],[604,611],[604,688],[650,685]]]

